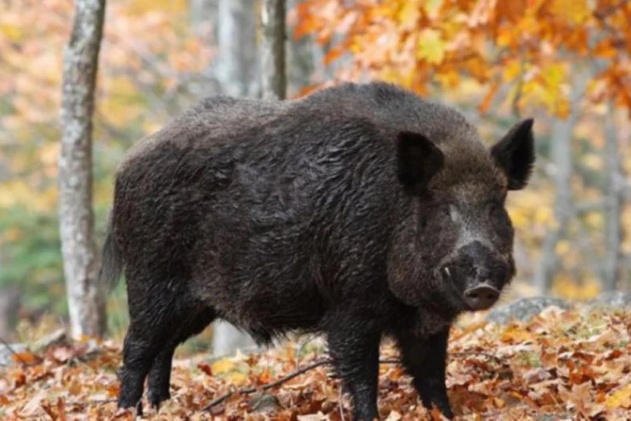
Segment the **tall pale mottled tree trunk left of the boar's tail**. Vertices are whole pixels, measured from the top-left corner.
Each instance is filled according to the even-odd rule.
[[[105,297],[93,239],[91,136],[105,0],[76,0],[74,10],[64,50],[59,228],[72,335],[102,336]]]

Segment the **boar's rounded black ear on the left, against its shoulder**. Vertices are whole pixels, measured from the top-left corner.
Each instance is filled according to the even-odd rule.
[[[442,151],[419,133],[402,131],[397,139],[397,174],[406,188],[418,193],[445,160]]]

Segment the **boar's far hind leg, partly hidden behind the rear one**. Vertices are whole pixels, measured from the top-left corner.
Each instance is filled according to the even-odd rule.
[[[162,351],[158,353],[149,372],[149,403],[158,408],[162,401],[170,398],[169,384],[171,378],[171,362],[173,353],[180,343],[197,335],[215,319],[215,311],[208,309],[188,321],[182,321],[179,329],[169,338]]]

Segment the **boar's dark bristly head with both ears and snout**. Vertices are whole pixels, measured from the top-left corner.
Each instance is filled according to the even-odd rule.
[[[479,139],[399,133],[398,178],[410,204],[391,252],[389,285],[399,299],[451,314],[495,303],[515,274],[505,199],[531,174],[532,126],[522,121],[490,150]]]

